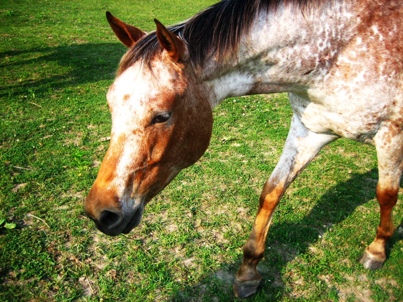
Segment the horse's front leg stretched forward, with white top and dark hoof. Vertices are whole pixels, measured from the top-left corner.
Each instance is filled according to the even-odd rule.
[[[258,214],[243,246],[243,263],[235,277],[233,292],[238,298],[254,294],[262,277],[256,265],[263,258],[264,243],[274,210],[287,187],[328,143],[339,137],[308,130],[295,115],[276,168],[264,185]]]

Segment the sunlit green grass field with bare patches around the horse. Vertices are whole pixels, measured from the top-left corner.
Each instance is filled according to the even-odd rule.
[[[110,134],[106,91],[126,48],[105,18],[145,31],[214,3],[0,2],[0,301],[233,301],[260,190],[287,136],[286,94],[214,111],[209,149],[146,207],[127,236],[83,213]],[[380,271],[356,259],[378,225],[376,153],[341,139],[290,186],[263,281],[245,301],[403,301],[402,198]],[[15,223],[13,229],[5,223]]]

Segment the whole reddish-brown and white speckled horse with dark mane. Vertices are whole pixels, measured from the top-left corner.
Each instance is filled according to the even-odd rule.
[[[293,117],[243,246],[235,296],[256,292],[274,211],[320,149],[344,137],[378,155],[380,223],[359,263],[380,269],[403,170],[403,2],[222,0],[146,33],[106,12],[129,49],[106,95],[111,139],[84,204],[105,234],[127,234],[145,204],[206,151],[228,97],[287,92]]]

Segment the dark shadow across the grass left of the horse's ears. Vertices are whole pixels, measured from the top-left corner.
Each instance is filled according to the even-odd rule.
[[[6,70],[3,76],[7,77],[10,70],[17,70],[17,74],[10,72],[0,97],[16,95],[21,90],[32,89],[39,94],[112,80],[125,51],[120,43],[83,43],[2,52],[0,58],[8,59],[0,64],[0,70]]]

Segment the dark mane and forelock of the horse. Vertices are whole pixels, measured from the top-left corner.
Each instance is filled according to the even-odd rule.
[[[172,33],[183,39],[195,68],[201,68],[213,54],[220,60],[236,54],[243,34],[261,11],[277,10],[280,4],[305,11],[337,0],[222,0],[198,12],[177,25],[169,26]],[[150,32],[131,47],[120,61],[117,75],[137,61],[151,69],[150,62],[163,48],[155,31]]]

